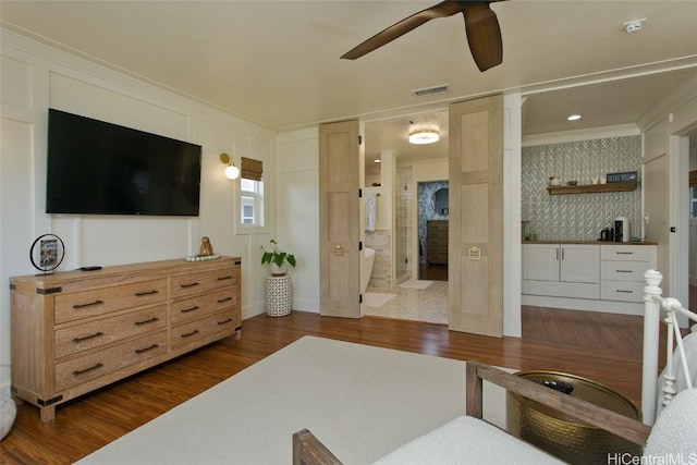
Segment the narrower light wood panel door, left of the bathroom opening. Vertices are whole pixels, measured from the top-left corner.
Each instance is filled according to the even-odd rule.
[[[320,315],[360,318],[358,121],[319,126]]]

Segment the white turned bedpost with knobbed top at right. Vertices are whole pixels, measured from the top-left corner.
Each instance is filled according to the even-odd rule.
[[[652,426],[656,421],[658,382],[658,341],[661,308],[653,297],[661,296],[663,276],[657,270],[644,273],[644,354],[641,365],[641,419]]]

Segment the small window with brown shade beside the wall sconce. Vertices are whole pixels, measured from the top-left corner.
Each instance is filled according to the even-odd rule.
[[[244,230],[264,228],[264,164],[242,157],[240,169],[240,225]]]

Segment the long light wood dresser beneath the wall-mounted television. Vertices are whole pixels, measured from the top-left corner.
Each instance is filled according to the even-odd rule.
[[[241,335],[239,257],[10,279],[12,393],[56,406],[194,348]]]

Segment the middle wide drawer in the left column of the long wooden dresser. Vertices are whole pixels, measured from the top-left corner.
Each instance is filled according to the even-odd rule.
[[[56,358],[164,329],[167,306],[131,311],[56,331]]]

